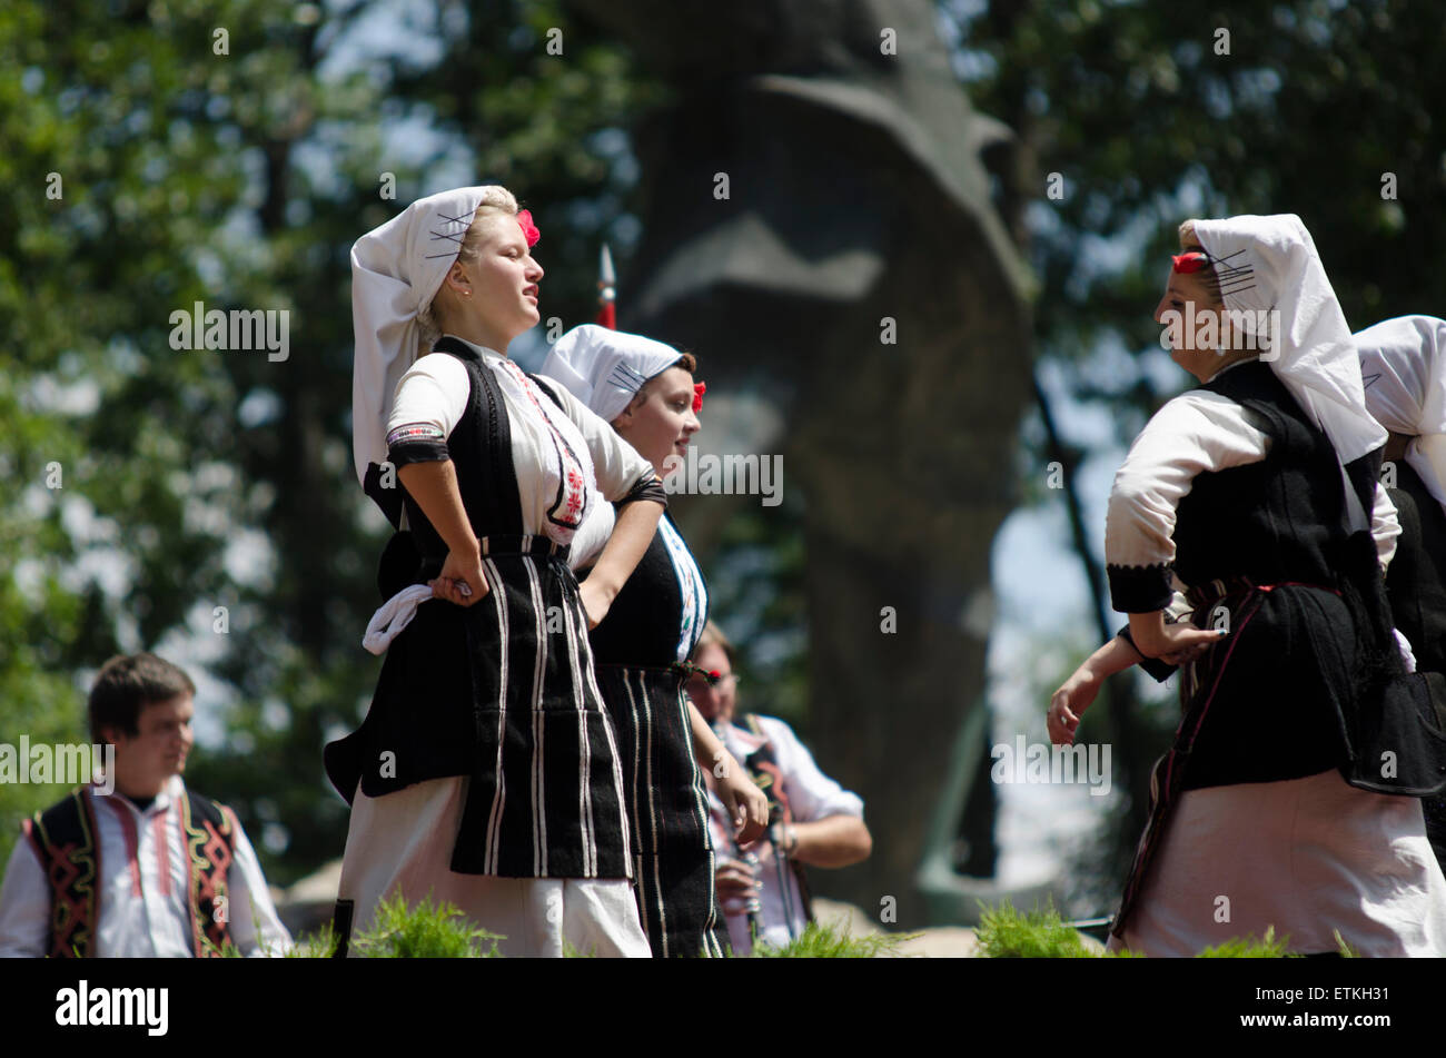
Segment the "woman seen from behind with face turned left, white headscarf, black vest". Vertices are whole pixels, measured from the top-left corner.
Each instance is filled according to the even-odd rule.
[[[1105,555],[1129,626],[1048,710],[1070,743],[1105,676],[1181,665],[1111,947],[1194,955],[1274,928],[1301,954],[1338,951],[1338,929],[1365,955],[1446,954],[1420,801],[1390,795],[1421,757],[1398,744],[1401,775],[1379,769],[1404,675],[1381,578],[1398,525],[1351,330],[1299,217],[1189,221],[1180,241],[1155,319],[1202,384],[1115,476]]]

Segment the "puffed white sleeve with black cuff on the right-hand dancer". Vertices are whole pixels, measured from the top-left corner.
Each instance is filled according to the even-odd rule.
[[[1258,463],[1270,438],[1242,405],[1209,390],[1174,397],[1145,423],[1115,473],[1105,515],[1105,569],[1121,613],[1173,597],[1176,509],[1197,474]]]

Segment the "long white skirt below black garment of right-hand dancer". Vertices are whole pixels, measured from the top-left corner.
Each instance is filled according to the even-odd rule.
[[[1446,954],[1446,877],[1416,798],[1356,789],[1339,772],[1187,791],[1165,827],[1122,939],[1194,955],[1268,926],[1293,952]]]

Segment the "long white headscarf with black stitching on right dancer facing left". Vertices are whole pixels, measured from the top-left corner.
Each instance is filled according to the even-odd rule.
[[[1194,223],[1194,233],[1215,259],[1225,308],[1246,314],[1246,331],[1257,332],[1257,312],[1280,314],[1278,334],[1271,335],[1272,347],[1261,358],[1330,438],[1342,467],[1384,445],[1385,429],[1365,409],[1351,327],[1300,217],[1205,220]],[[1364,522],[1349,486],[1346,503],[1352,520]]]

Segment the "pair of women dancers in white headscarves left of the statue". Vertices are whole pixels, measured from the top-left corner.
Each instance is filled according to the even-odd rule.
[[[476,186],[353,249],[356,468],[398,533],[376,695],[325,750],[351,802],[338,926],[401,892],[503,954],[723,955],[710,799],[743,846],[771,807],[684,692],[709,595],[661,476],[703,386],[691,354],[596,325],[539,374],[509,360],[538,237]]]

